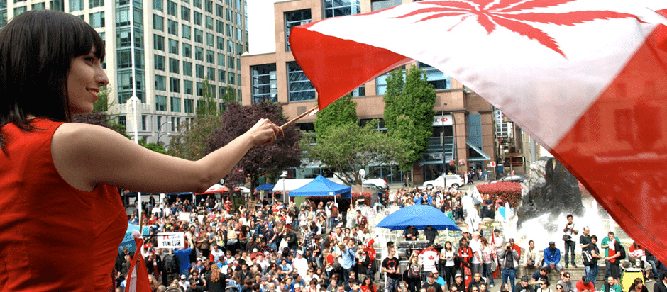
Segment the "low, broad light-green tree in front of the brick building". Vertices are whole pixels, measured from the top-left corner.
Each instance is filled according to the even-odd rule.
[[[372,120],[363,127],[355,123],[333,125],[326,130],[326,137],[320,138],[317,134],[316,144],[312,136],[305,137],[301,141],[304,156],[333,169],[346,184],[360,184],[358,169],[390,165],[394,154],[400,152],[397,140],[378,131],[377,123],[378,120]],[[373,173],[368,172],[366,177]]]

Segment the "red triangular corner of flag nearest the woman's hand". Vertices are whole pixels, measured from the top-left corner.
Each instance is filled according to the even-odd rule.
[[[309,26],[290,30],[290,47],[294,59],[319,94],[320,110],[360,84],[412,61],[390,50],[341,40],[304,27]],[[323,51],[327,54],[322,54]],[[324,67],[326,69],[321,69]],[[355,71],[350,72],[351,68]]]

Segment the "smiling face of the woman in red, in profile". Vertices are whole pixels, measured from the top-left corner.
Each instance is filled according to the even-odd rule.
[[[98,57],[95,57],[95,47],[88,55],[75,57],[70,64],[67,74],[67,96],[70,98],[70,112],[72,114],[90,113],[93,103],[97,101],[99,88],[109,84],[104,69]]]

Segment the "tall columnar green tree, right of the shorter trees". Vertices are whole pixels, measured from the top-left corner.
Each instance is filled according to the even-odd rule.
[[[390,73],[384,101],[387,135],[399,140],[404,147],[402,152],[396,153],[396,162],[403,170],[408,170],[429,147],[436,91],[426,81],[426,74],[412,66],[405,77],[402,69]]]

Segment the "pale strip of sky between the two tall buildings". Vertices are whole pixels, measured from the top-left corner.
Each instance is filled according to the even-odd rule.
[[[248,0],[248,52],[250,55],[275,52],[273,3],[277,0]]]

